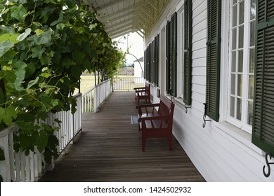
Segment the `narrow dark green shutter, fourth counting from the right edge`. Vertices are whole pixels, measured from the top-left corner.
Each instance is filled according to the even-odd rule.
[[[171,15],[171,91],[174,97],[177,95],[177,13]]]

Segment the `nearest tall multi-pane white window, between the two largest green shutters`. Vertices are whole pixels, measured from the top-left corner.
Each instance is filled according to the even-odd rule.
[[[230,0],[227,120],[250,133],[253,119],[255,20],[255,0]]]

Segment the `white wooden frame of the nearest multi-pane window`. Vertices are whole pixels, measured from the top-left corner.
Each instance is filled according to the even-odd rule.
[[[244,32],[248,32],[250,34],[250,22],[249,22],[249,3],[251,0],[244,0]],[[248,76],[250,75],[248,72],[249,65],[249,36],[244,36],[244,50],[243,50],[243,70],[242,70],[242,119],[236,120],[235,118],[231,118],[229,116],[230,113],[230,60],[231,60],[231,15],[232,14],[232,6],[231,1],[222,2],[222,27],[221,27],[221,99],[220,99],[220,121],[226,121],[236,127],[248,132],[252,133],[252,126],[247,124],[247,116],[248,116]],[[247,9],[248,8],[248,9]],[[229,24],[229,25],[227,25]],[[247,48],[247,49],[246,49]],[[244,100],[244,101],[243,101]]]

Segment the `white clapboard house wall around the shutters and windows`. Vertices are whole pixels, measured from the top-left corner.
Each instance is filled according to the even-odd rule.
[[[228,1],[223,1],[223,7]],[[164,47],[164,25],[174,11],[183,6],[182,1],[170,1],[164,15],[159,20],[152,34],[145,40],[145,45],[150,43],[150,38],[160,34],[160,48]],[[228,18],[222,13],[223,29],[226,28]],[[178,39],[178,41],[180,41]],[[221,109],[221,120],[219,123],[211,121],[202,128],[204,115],[205,92],[206,92],[206,41],[207,41],[207,0],[193,0],[193,94],[191,109],[185,113],[181,99],[175,99],[174,111],[174,136],[181,144],[190,160],[206,181],[274,181],[274,167],[272,167],[269,178],[263,176],[263,165],[265,165],[264,153],[251,142],[251,134],[226,123],[223,120]],[[227,66],[226,32],[222,34],[222,57],[221,71],[223,78]],[[180,45],[180,44],[178,44]],[[179,47],[179,46],[178,46]],[[163,49],[160,49],[161,55]],[[178,48],[178,51],[179,48]],[[180,55],[178,55],[180,56]],[[164,58],[160,56],[159,84],[164,85]],[[178,59],[178,63],[181,60]],[[178,65],[180,66],[180,65]],[[178,79],[178,82],[180,79]],[[225,80],[221,81],[221,94],[226,90]],[[161,90],[164,88],[159,87]],[[156,88],[151,88],[153,97]],[[163,93],[163,92],[162,92]],[[157,101],[157,99],[155,99]],[[226,104],[226,97],[221,96],[220,108]],[[207,117],[208,118],[208,117]]]

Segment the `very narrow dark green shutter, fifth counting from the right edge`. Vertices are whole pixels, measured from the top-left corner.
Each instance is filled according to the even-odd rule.
[[[166,27],[166,90],[169,94],[171,89],[171,83],[170,83],[170,41],[171,41],[171,31],[170,31],[170,21],[167,21],[167,27]]]

